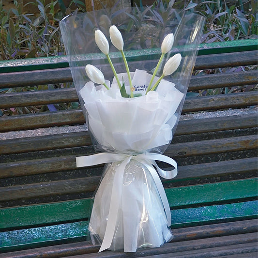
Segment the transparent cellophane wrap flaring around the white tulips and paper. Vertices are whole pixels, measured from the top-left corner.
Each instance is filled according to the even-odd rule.
[[[102,244],[100,251],[108,248],[135,252],[137,248],[158,247],[172,239],[169,204],[154,170],[157,166],[152,155],[162,154],[172,140],[196,60],[203,19],[195,14],[180,19],[178,12],[171,9],[169,20],[162,23],[158,22],[155,12],[150,8],[116,12],[103,9],[70,15],[60,24],[93,146],[105,155],[106,152],[116,154],[116,158],[106,164],[93,196],[89,230],[92,242]],[[142,96],[121,97],[105,55],[94,42],[95,29],[102,30],[109,39],[108,30],[113,24],[123,35],[134,93]],[[174,47],[167,53],[164,63],[175,53],[181,53],[181,65],[172,77],[160,82],[156,91],[145,94],[161,53],[161,42],[171,32],[174,33]],[[120,52],[112,48],[110,42],[109,46],[119,79],[129,92]],[[88,63],[101,69],[110,90],[89,81],[85,72]],[[161,75],[163,65],[154,82]],[[174,170],[168,175],[163,171],[165,175],[160,175],[175,176]]]

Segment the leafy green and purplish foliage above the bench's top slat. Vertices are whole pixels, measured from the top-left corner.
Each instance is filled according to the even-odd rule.
[[[62,0],[49,4],[45,4],[45,0],[35,0],[28,4],[38,8],[36,14],[23,12],[22,2],[14,0],[14,4],[15,8],[5,10],[0,0],[2,60],[63,55],[59,21],[71,13],[72,4],[76,5],[78,12],[86,11],[84,1],[80,0],[71,0],[67,8]],[[142,1],[135,0],[134,5],[142,6]],[[220,0],[156,0],[153,5],[164,10],[176,8],[205,16],[203,42],[257,38],[257,0],[231,0],[228,3]]]

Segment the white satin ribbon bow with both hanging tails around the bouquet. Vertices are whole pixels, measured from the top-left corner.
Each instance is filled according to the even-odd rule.
[[[167,196],[158,174],[166,179],[174,178],[177,175],[177,163],[175,160],[165,155],[155,153],[127,155],[122,153],[103,152],[89,156],[76,157],[76,167],[88,167],[103,163],[121,161],[121,164],[117,167],[116,173],[114,175],[106,231],[99,252],[106,250],[111,246],[115,233],[119,204],[122,196],[123,173],[126,165],[130,162],[131,159],[137,160],[145,167],[147,167],[147,169],[150,171],[152,178],[157,186],[164,210],[166,212],[167,226],[171,225],[171,213],[169,203],[167,201]],[[158,167],[155,160],[166,162],[174,168],[168,171],[163,170]],[[156,167],[158,174],[153,166]]]

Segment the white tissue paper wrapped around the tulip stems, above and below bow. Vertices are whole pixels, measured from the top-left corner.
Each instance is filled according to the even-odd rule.
[[[126,74],[118,76],[128,85]],[[136,70],[131,76],[134,93],[142,96],[121,97],[115,80],[110,90],[88,82],[79,94],[98,144],[110,152],[138,155],[170,143],[183,93],[163,79],[156,91],[145,95],[152,75]],[[110,82],[106,84],[110,86]],[[152,165],[157,167],[152,158],[129,155],[106,165],[89,224],[92,241],[102,243],[100,251],[135,252],[140,247],[161,246],[172,238],[166,194]]]

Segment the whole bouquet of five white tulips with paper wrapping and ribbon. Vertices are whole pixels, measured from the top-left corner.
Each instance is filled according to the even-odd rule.
[[[72,54],[75,48],[68,44],[73,42],[69,33],[74,33],[75,21],[75,17],[63,19],[61,32],[79,99],[87,110],[92,141],[97,143],[97,150],[102,150],[94,155],[77,157],[76,164],[77,167],[85,167],[106,163],[89,222],[92,242],[101,244],[100,251],[135,252],[141,247],[161,246],[172,239],[172,233],[169,228],[170,208],[159,176],[171,179],[177,175],[177,163],[162,153],[164,146],[172,140],[172,130],[177,125],[188,86],[187,83],[183,85],[181,80],[179,84],[183,87],[179,90],[175,83],[164,77],[181,69],[179,73],[187,77],[189,83],[191,71],[188,69],[193,67],[196,46],[190,60],[184,56],[182,64],[180,53],[168,58],[174,42],[174,34],[168,32],[162,41],[161,56],[153,72],[143,69],[130,71],[121,32],[116,26],[110,26],[111,43],[120,51],[125,67],[124,73],[117,73],[118,65],[111,61],[110,46],[104,32],[92,28],[94,44],[105,55],[114,77],[113,80],[105,80],[101,69],[86,61],[84,67],[91,81],[82,86],[78,77],[83,72],[79,70],[78,73],[76,62],[76,58],[80,57]],[[202,26],[198,24],[197,27],[199,32]],[[195,33],[195,36],[198,34]],[[190,61],[190,66],[187,61]],[[161,66],[161,76],[156,76]],[[172,169],[165,171],[157,166],[156,161],[168,163]]]

